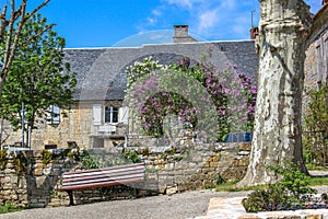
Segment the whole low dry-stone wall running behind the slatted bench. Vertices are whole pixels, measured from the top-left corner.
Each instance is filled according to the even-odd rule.
[[[241,180],[248,165],[249,150],[250,143],[189,143],[92,150],[92,158],[104,166],[131,162],[122,154],[134,154],[145,163],[145,180],[134,185],[137,194],[134,188],[125,186],[75,191],[75,203],[79,205],[133,195],[145,196],[152,192],[173,194],[213,187],[222,180]],[[67,193],[55,188],[63,172],[82,168],[78,155],[80,153],[77,149],[50,150],[46,153],[24,151],[8,155],[5,162],[0,159],[0,205],[68,205]]]

